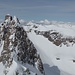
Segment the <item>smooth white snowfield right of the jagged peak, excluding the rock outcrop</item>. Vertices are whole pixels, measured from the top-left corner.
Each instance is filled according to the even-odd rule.
[[[38,26],[33,28],[32,25]],[[44,63],[46,75],[75,75],[75,45],[69,47],[62,45],[56,46],[42,35],[36,35],[34,30],[49,31],[54,30],[61,33],[64,37],[75,37],[75,25],[71,24],[50,24],[39,25],[31,23],[31,26],[24,26],[25,30],[32,29],[28,37],[34,43],[41,55]],[[56,58],[60,58],[57,60]]]

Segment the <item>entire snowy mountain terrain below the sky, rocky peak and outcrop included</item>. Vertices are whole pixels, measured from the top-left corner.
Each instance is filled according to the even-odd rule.
[[[57,21],[0,24],[0,75],[75,75],[75,25]]]

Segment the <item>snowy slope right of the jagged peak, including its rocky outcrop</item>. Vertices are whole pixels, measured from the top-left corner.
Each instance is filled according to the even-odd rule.
[[[34,24],[24,29],[41,55],[46,75],[75,75],[75,25]]]

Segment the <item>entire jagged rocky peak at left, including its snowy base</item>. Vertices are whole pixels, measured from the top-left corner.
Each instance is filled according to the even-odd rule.
[[[0,49],[0,75],[45,75],[37,49],[15,16],[7,14],[0,25]]]

